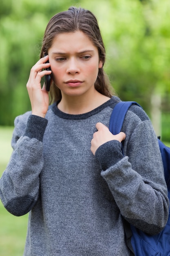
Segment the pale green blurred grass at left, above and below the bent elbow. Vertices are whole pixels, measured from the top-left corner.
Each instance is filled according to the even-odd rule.
[[[13,127],[0,127],[0,177],[12,153]],[[26,239],[28,214],[11,215],[0,200],[0,256],[22,256]]]

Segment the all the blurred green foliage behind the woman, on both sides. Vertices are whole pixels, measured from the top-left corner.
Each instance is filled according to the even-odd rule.
[[[72,5],[97,16],[105,70],[121,99],[138,101],[149,114],[151,95],[161,94],[169,113],[169,0],[1,0],[0,125],[13,125],[16,115],[31,109],[26,82],[44,30],[55,13]]]

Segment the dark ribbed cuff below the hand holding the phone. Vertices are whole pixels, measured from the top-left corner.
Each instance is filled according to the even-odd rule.
[[[27,121],[24,136],[42,141],[48,120],[36,115],[30,115]]]

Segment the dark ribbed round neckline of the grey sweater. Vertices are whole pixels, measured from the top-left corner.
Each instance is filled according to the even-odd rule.
[[[54,112],[55,115],[57,115],[58,117],[60,117],[62,119],[81,120],[81,119],[86,119],[88,117],[96,115],[97,113],[101,112],[104,108],[107,108],[108,106],[111,106],[111,105],[113,105],[113,103],[116,103],[118,101],[119,101],[118,97],[113,96],[112,98],[110,98],[108,101],[106,101],[99,107],[97,107],[89,112],[86,112],[84,114],[77,114],[77,115],[66,114],[66,113],[62,112],[61,110],[59,110],[57,107],[57,104],[59,103],[59,101],[57,101],[57,102],[53,103],[52,111]]]

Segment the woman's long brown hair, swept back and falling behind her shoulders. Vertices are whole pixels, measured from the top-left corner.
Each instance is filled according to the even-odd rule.
[[[93,45],[97,47],[99,60],[102,61],[104,66],[106,51],[97,19],[91,11],[76,7],[70,7],[68,11],[57,13],[51,18],[44,33],[40,58],[44,56],[44,53],[48,53],[56,35],[78,30],[84,32]],[[95,89],[107,97],[113,95],[108,76],[103,67],[99,68]],[[51,102],[62,98],[60,89],[54,83],[51,85],[50,94]]]

